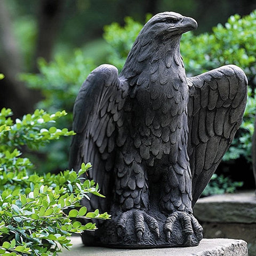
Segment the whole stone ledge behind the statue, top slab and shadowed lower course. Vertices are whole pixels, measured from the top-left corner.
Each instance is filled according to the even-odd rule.
[[[256,255],[256,196],[254,191],[201,198],[194,214],[205,238],[243,239]]]

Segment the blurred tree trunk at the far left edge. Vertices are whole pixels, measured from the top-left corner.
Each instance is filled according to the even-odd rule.
[[[20,116],[33,109],[31,107],[31,91],[17,78],[17,75],[24,71],[23,62],[12,34],[12,22],[4,0],[0,1],[0,24],[2,45],[0,70],[5,75],[0,82],[0,108],[12,108],[13,112]]]

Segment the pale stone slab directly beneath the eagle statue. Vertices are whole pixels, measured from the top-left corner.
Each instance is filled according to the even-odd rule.
[[[247,243],[237,239],[203,239],[195,247],[161,249],[111,249],[104,247],[85,247],[81,237],[72,237],[73,247],[64,250],[60,256],[247,256]]]

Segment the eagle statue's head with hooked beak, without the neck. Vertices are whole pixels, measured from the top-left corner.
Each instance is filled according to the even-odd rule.
[[[175,12],[162,12],[152,17],[145,25],[144,35],[153,37],[180,37],[187,31],[197,28],[197,22],[189,17],[184,17]]]

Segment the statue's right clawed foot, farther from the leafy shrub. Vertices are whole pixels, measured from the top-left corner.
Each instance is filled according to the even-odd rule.
[[[183,232],[183,245],[191,245],[192,244],[192,235],[195,234],[198,242],[203,238],[203,228],[198,223],[196,218],[187,212],[174,212],[172,213],[165,222],[164,225],[164,233],[166,235],[166,241],[169,242],[171,239],[171,234],[174,228],[174,224],[176,221],[180,221],[181,228]]]

